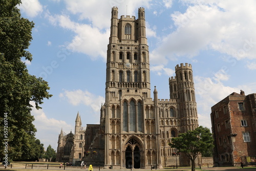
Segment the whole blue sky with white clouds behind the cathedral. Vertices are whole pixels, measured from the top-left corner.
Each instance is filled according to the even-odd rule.
[[[48,81],[50,99],[33,108],[36,138],[57,148],[61,131],[75,129],[77,113],[99,124],[105,98],[106,50],[111,9],[136,16],[144,7],[150,50],[151,97],[169,98],[175,66],[193,68],[199,125],[211,129],[211,106],[243,90],[256,93],[255,0],[22,0],[22,16],[34,22],[24,62],[29,73]],[[31,102],[31,104],[34,104]]]

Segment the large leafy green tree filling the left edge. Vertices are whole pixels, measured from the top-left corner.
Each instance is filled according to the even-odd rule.
[[[20,159],[31,146],[31,139],[35,139],[30,102],[34,101],[35,108],[40,109],[42,100],[52,96],[48,83],[30,75],[22,61],[32,60],[27,49],[34,24],[21,16],[16,7],[20,3],[0,0],[0,143],[8,141],[8,153],[0,148],[0,158],[8,154],[9,160]],[[4,119],[8,119],[8,135],[4,134]]]

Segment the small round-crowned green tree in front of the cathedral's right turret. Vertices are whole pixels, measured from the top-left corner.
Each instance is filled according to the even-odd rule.
[[[177,148],[178,153],[185,154],[191,161],[191,170],[195,170],[195,159],[200,153],[212,149],[214,139],[207,127],[199,126],[194,131],[179,134],[178,137],[173,138],[169,145]]]

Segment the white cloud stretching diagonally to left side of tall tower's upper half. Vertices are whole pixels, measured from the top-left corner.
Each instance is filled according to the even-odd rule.
[[[73,22],[66,15],[46,14],[52,25],[59,25],[62,28],[71,30],[76,33],[73,40],[66,45],[67,49],[73,52],[81,52],[90,56],[91,59],[106,58],[106,50],[110,30],[99,30],[87,24],[79,24]]]

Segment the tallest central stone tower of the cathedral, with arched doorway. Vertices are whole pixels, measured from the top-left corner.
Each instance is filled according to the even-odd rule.
[[[144,153],[150,149],[152,159],[148,164],[161,167],[157,161],[160,146],[151,98],[144,8],[139,8],[138,19],[128,15],[118,19],[117,14],[118,9],[112,8],[106,62],[104,165],[145,168]],[[145,122],[151,125],[151,131],[146,131]],[[146,136],[151,137],[148,147]]]

